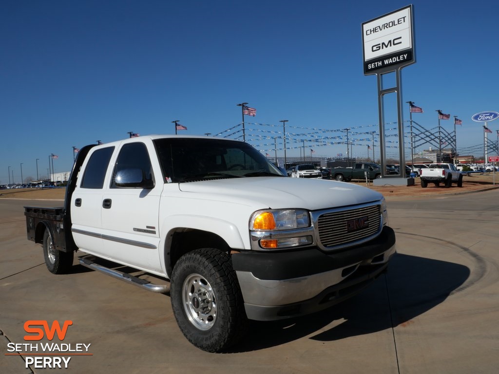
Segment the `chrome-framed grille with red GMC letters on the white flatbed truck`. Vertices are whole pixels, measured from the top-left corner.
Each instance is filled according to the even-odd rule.
[[[324,249],[336,249],[370,239],[381,230],[380,205],[322,213],[317,219],[317,230]]]

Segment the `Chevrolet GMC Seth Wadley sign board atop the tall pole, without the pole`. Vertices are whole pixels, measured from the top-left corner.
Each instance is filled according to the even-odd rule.
[[[364,22],[362,41],[364,74],[374,74],[375,70],[415,62],[412,6]]]

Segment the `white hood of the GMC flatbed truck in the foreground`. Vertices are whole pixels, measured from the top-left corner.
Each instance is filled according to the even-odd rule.
[[[183,192],[256,208],[325,209],[380,200],[381,193],[345,182],[302,178],[254,177],[179,184]],[[194,196],[193,196],[194,197]],[[197,197],[197,196],[196,196]],[[201,196],[200,196],[201,197]]]

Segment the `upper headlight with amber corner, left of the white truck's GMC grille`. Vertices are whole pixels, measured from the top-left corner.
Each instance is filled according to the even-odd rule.
[[[251,231],[290,230],[310,226],[308,211],[302,209],[260,210],[251,216]]]

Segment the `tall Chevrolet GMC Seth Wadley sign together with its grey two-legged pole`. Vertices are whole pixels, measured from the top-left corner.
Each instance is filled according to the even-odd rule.
[[[377,76],[379,141],[381,176],[383,178],[404,178],[404,121],[402,115],[401,69],[416,62],[414,49],[413,6],[409,5],[381,17],[362,23],[362,44],[364,75]],[[383,76],[395,73],[395,86],[384,84]],[[397,95],[397,122],[399,128],[400,176],[386,175],[385,107],[384,96]],[[404,179],[405,180],[405,179]]]

